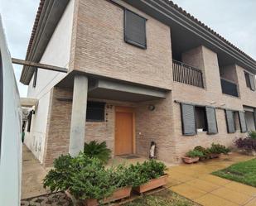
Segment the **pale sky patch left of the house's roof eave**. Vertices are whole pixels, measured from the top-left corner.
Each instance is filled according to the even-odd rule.
[[[39,0],[1,0],[0,13],[12,57],[25,59],[28,41]],[[13,65],[20,95],[27,96],[27,86],[19,82],[22,66]]]

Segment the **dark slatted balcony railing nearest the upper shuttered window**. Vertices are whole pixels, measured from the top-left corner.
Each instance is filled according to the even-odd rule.
[[[203,73],[190,65],[172,60],[173,80],[184,84],[204,88]]]

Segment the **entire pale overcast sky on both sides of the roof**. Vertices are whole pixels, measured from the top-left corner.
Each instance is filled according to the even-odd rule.
[[[180,7],[220,33],[256,59],[255,0],[174,0]],[[39,0],[0,0],[0,12],[12,57],[24,59]],[[20,84],[22,67],[14,65],[22,97],[27,87]]]

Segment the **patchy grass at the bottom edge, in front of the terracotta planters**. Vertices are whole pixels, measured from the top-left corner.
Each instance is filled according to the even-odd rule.
[[[199,204],[166,189],[157,194],[142,196],[124,206],[199,206]]]

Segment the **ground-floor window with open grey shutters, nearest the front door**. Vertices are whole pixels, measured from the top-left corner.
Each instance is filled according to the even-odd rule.
[[[181,103],[181,118],[183,135],[196,135],[197,129],[218,133],[215,108]]]

